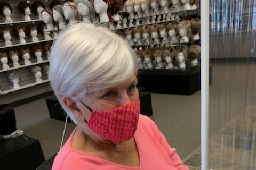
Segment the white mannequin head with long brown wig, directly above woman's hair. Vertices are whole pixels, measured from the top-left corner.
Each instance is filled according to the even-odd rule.
[[[77,5],[78,13],[80,15],[86,16],[89,14],[90,20],[92,22],[95,21],[95,18],[96,18],[95,11],[92,3],[89,0],[77,0],[76,5]]]

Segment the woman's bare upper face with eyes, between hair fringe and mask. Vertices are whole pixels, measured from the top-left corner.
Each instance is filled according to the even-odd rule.
[[[108,111],[138,101],[139,92],[136,84],[137,78],[133,74],[129,80],[119,86],[87,94],[83,103],[92,110]]]

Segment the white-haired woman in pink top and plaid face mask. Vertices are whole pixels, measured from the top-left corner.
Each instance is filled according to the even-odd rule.
[[[77,125],[52,169],[188,169],[140,113],[136,55],[103,27],[78,23],[55,39],[50,78]]]

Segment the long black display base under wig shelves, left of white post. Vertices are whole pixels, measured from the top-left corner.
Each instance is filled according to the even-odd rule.
[[[187,70],[139,70],[139,87],[143,91],[192,95],[201,89],[201,70],[199,66]]]

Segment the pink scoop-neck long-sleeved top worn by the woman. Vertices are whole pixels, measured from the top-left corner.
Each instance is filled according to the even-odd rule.
[[[134,134],[140,157],[140,165],[138,167],[119,165],[83,151],[72,149],[71,141],[75,131],[76,129],[55,157],[52,170],[188,169],[183,165],[176,149],[170,147],[156,124],[147,116],[139,116],[138,127]]]

